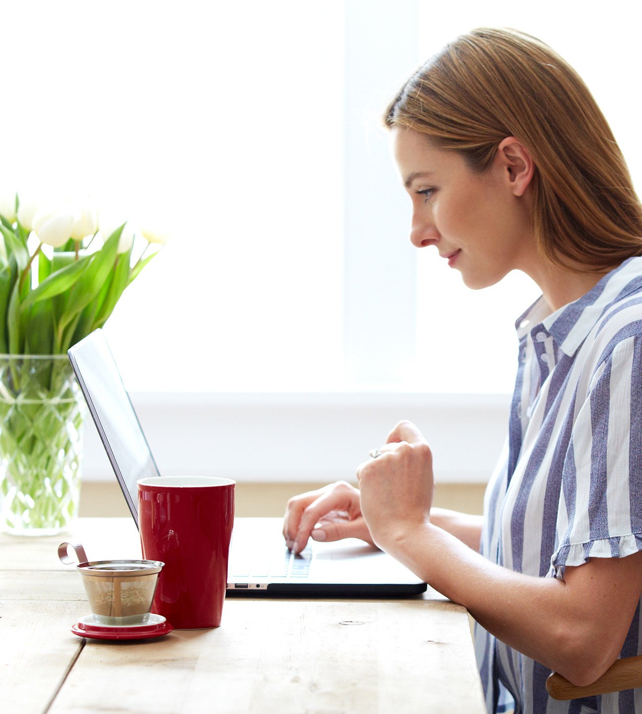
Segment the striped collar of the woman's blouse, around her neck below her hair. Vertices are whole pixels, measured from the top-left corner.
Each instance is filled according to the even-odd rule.
[[[628,258],[603,276],[586,295],[554,312],[540,296],[516,321],[518,338],[543,328],[553,336],[561,351],[571,357],[613,303],[640,290],[642,257]]]

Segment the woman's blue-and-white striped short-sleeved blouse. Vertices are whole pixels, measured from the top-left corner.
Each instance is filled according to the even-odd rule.
[[[566,565],[642,549],[642,258],[579,300],[543,298],[518,319],[508,441],[488,483],[481,552],[518,573],[563,578]],[[642,653],[640,607],[622,656]],[[479,625],[488,711],[642,714],[642,690],[558,702],[543,665]],[[507,691],[508,693],[507,693]]]

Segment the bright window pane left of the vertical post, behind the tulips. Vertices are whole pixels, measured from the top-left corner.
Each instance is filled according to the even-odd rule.
[[[336,382],[342,4],[27,0],[3,21],[0,183],[174,233],[106,327],[129,388]]]

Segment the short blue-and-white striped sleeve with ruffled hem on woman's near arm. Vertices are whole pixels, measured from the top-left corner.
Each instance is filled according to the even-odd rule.
[[[549,571],[556,578],[566,565],[642,550],[642,336],[636,332],[630,326],[612,341],[586,398],[575,405]]]

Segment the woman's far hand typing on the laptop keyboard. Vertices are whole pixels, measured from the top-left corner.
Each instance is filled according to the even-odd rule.
[[[359,491],[347,481],[293,496],[286,507],[283,536],[288,548],[295,553],[301,553],[310,537],[313,540],[361,538],[373,545],[361,515]]]

